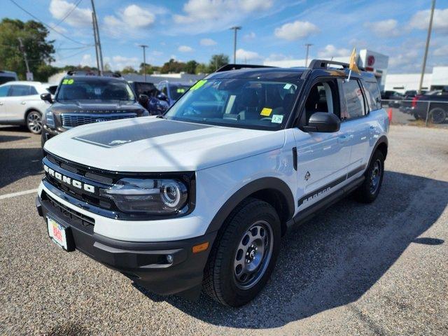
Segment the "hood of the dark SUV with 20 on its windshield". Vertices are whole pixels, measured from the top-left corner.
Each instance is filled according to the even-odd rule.
[[[137,102],[55,102],[52,104],[53,113],[114,113],[141,110],[142,107]]]

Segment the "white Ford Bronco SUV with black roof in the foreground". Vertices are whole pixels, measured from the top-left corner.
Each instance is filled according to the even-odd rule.
[[[161,118],[50,139],[36,199],[49,236],[158,294],[252,300],[288,228],[381,188],[389,120],[377,81],[329,64],[228,65]]]

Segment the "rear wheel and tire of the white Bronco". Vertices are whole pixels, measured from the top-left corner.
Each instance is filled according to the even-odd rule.
[[[377,199],[384,176],[384,156],[380,151],[375,151],[369,167],[364,173],[365,180],[355,192],[358,202],[372,203]]]

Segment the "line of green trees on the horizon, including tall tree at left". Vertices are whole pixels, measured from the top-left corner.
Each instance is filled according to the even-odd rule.
[[[55,62],[55,41],[48,40],[48,29],[40,22],[29,20],[11,20],[4,18],[0,22],[0,70],[14,71],[18,74],[20,80],[26,78],[26,66],[24,52],[27,53],[29,71],[34,74],[34,80],[46,81],[48,77],[60,71],[83,70],[97,71],[94,66],[66,65],[52,66]],[[23,48],[20,47],[22,39]],[[80,47],[82,49],[82,47]],[[73,54],[78,52],[76,48],[66,48],[73,50]],[[81,50],[82,52],[82,50]],[[70,56],[69,56],[70,57]],[[179,62],[176,59],[169,59],[162,66],[141,63],[139,69],[132,66],[125,66],[121,71],[126,73],[210,73],[219,69],[221,66],[229,63],[229,57],[224,54],[212,55],[208,64],[190,60],[188,62]],[[109,64],[105,64],[105,70],[110,71]]]

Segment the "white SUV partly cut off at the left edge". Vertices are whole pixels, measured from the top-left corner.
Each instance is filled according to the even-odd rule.
[[[0,85],[0,124],[26,125],[29,132],[40,134],[42,116],[49,104],[41,94],[49,85],[40,82],[14,81]]]

